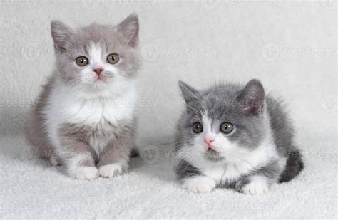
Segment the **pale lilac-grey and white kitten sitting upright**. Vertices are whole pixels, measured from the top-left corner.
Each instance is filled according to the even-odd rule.
[[[51,22],[56,68],[31,112],[28,137],[40,157],[74,179],[128,169],[140,67],[138,16],[117,26],[72,29]]]

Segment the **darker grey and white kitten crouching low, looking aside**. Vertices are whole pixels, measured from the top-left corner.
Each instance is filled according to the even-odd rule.
[[[280,100],[259,80],[198,91],[179,83],[186,111],[176,137],[175,172],[183,188],[262,194],[303,169],[294,130]]]

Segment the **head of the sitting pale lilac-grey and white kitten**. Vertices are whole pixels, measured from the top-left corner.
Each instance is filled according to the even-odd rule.
[[[138,29],[136,14],[117,26],[93,23],[76,30],[52,21],[58,78],[74,88],[93,90],[126,84],[140,66]]]

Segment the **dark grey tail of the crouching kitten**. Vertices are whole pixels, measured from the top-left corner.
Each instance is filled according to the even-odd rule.
[[[289,157],[287,157],[285,169],[282,174],[280,174],[279,182],[289,182],[295,178],[303,168],[302,154],[300,154],[298,150],[290,152]]]

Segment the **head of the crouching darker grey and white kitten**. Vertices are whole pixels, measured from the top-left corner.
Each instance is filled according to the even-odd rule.
[[[237,161],[262,142],[267,126],[259,80],[250,80],[245,87],[219,85],[204,91],[179,85],[186,103],[179,122],[185,152],[212,161]]]

